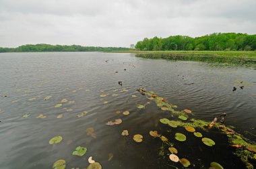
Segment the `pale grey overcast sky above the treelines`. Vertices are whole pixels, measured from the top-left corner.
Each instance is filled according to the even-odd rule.
[[[0,46],[125,46],[145,37],[256,34],[256,0],[0,0]]]

